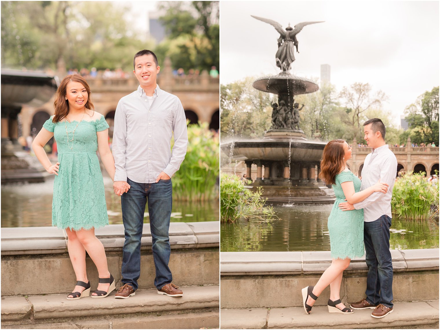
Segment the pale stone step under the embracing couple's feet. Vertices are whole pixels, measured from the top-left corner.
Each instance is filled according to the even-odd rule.
[[[220,324],[221,329],[439,328],[438,300],[396,303],[393,312],[381,319],[371,317],[372,311],[342,315],[317,306],[307,315],[303,307],[221,309]]]

